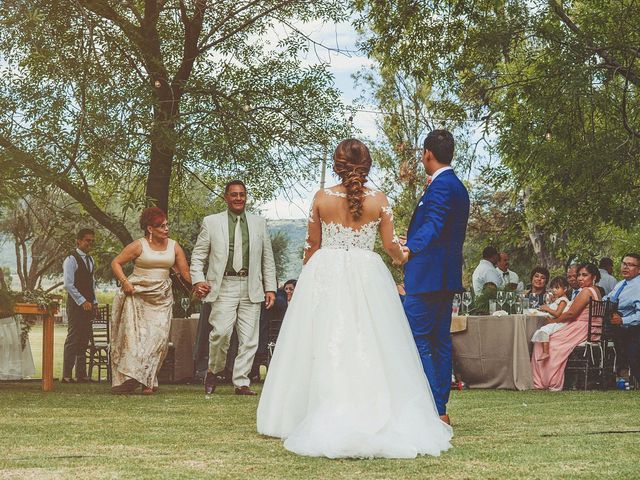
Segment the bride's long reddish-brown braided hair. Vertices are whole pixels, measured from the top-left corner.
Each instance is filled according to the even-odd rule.
[[[371,168],[371,155],[364,143],[355,138],[343,140],[333,153],[333,170],[347,189],[349,211],[354,220],[362,215],[364,184]]]

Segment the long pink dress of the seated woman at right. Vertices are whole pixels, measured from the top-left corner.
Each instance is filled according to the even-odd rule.
[[[589,287],[591,295],[599,298],[595,288]],[[602,319],[594,319],[602,321]],[[574,348],[587,339],[589,329],[589,305],[585,306],[577,318],[566,327],[552,333],[549,337],[549,358],[541,362],[542,344],[534,343],[531,357],[533,387],[539,390],[562,390],[564,386],[564,367]]]

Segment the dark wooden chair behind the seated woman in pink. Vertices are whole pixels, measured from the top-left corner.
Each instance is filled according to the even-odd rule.
[[[567,360],[565,371],[583,375],[583,388],[597,385],[606,390],[615,384],[616,350],[611,337],[611,315],[618,304],[609,300],[589,300],[587,339]]]

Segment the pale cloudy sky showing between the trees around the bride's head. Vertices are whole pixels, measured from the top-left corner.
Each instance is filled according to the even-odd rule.
[[[331,48],[339,48],[346,53],[336,53],[322,47],[311,48],[301,60],[307,64],[326,63],[333,74],[335,87],[342,93],[341,98],[345,105],[351,105],[362,95],[360,88],[356,88],[352,75],[359,70],[371,65],[371,61],[362,53],[357,52],[356,42],[358,35],[349,23],[321,23],[313,22],[296,25],[301,31],[315,42]],[[277,32],[274,33],[277,36]],[[359,103],[362,103],[361,101]],[[377,137],[376,115],[367,112],[356,112],[353,116],[353,126],[361,132],[365,139]],[[345,118],[345,122],[348,121]],[[301,195],[286,192],[286,195],[278,195],[274,200],[261,205],[262,214],[268,219],[306,218],[313,194],[318,189],[320,182],[320,170],[318,170],[318,183],[301,186]],[[330,165],[326,172],[326,184],[337,183]],[[289,197],[289,198],[287,198]]]

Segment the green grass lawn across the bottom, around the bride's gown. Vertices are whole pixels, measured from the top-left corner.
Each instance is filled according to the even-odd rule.
[[[638,392],[455,391],[453,448],[416,460],[296,456],[256,433],[257,404],[231,387],[0,383],[0,478],[640,478]]]

